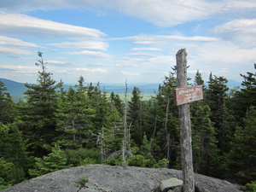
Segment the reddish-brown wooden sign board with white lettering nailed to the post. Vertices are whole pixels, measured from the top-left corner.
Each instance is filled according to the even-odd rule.
[[[183,105],[203,99],[202,85],[182,87],[173,90],[174,104]]]

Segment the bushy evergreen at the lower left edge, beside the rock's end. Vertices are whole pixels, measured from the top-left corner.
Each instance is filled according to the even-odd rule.
[[[26,152],[26,142],[18,127],[15,124],[0,123],[0,168],[3,172],[0,173],[0,189],[1,177],[3,187],[26,179],[26,172],[31,163]]]

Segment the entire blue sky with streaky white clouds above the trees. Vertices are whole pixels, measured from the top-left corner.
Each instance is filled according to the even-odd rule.
[[[255,0],[1,0],[0,78],[36,83],[43,52],[66,84],[162,83],[186,49],[197,70],[241,82],[256,62]]]

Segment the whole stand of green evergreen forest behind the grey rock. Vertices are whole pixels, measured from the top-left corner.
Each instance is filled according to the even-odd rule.
[[[128,102],[84,77],[64,90],[38,56],[26,102],[12,102],[0,81],[0,189],[88,164],[181,168],[175,71],[150,100],[135,86]],[[206,86],[195,74],[193,84],[204,87],[204,100],[190,104],[195,172],[256,183],[255,76],[241,74],[241,89],[230,90],[224,77],[210,74]]]

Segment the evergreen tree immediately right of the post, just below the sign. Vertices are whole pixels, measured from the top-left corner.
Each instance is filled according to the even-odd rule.
[[[218,167],[216,131],[210,119],[211,109],[204,102],[191,105],[192,147],[195,172],[214,176]]]

